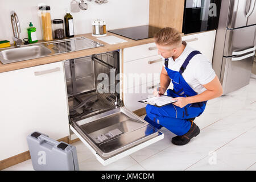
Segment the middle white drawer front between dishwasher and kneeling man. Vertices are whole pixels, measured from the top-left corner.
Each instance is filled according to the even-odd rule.
[[[123,89],[159,80],[162,63],[160,55],[123,63]]]

